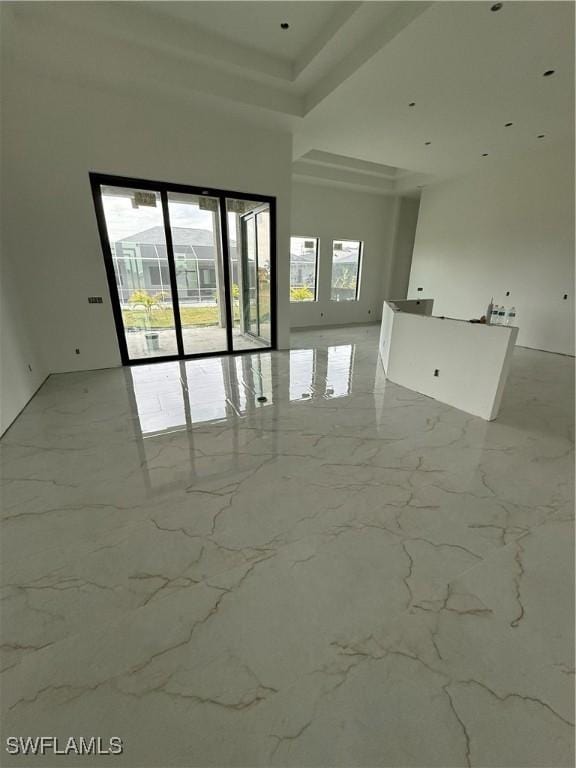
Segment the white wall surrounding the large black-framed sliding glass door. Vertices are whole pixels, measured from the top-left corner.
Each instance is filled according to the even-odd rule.
[[[255,127],[203,97],[179,103],[51,78],[28,70],[26,50],[14,48],[18,64],[4,61],[4,227],[48,371],[120,364],[89,171],[275,196],[278,342],[287,346],[289,132]]]

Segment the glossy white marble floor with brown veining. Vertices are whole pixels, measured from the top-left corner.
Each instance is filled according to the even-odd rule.
[[[573,360],[497,421],[374,326],[51,376],[0,443],[2,765],[574,763]],[[263,399],[265,398],[265,399]]]

